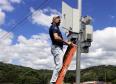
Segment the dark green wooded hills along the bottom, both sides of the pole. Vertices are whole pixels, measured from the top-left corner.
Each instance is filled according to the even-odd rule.
[[[0,84],[48,84],[52,75],[51,70],[35,70],[0,62]],[[67,72],[65,82],[75,82],[75,71]],[[116,66],[93,66],[81,70],[83,81],[108,81],[116,84]]]

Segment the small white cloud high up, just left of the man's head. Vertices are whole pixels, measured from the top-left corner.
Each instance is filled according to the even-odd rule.
[[[38,25],[47,26],[49,27],[53,16],[60,15],[60,12],[58,12],[55,9],[47,8],[43,10],[35,10],[33,8],[30,8],[32,14],[32,23],[36,23]]]

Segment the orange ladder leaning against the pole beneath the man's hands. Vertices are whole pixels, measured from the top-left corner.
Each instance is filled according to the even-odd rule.
[[[69,46],[66,50],[66,53],[64,55],[64,60],[63,60],[63,66],[62,69],[60,70],[59,74],[58,74],[58,78],[56,80],[56,84],[63,84],[63,80],[65,77],[65,74],[68,70],[68,67],[71,63],[71,60],[74,56],[74,53],[76,52],[77,46],[73,45],[73,46]]]

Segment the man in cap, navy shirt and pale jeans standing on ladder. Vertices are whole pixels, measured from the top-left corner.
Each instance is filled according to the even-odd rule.
[[[71,42],[63,40],[62,34],[59,29],[61,19],[60,16],[53,17],[52,25],[49,28],[49,34],[52,41],[51,53],[54,57],[55,69],[50,80],[50,84],[55,84],[58,73],[62,68],[63,64],[63,44],[72,45]]]

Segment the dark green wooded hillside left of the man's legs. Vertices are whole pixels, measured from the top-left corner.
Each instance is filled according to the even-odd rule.
[[[0,84],[47,84],[51,72],[0,63]]]

